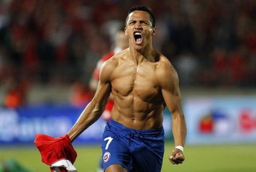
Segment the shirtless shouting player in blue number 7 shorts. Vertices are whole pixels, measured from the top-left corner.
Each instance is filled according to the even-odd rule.
[[[161,171],[164,154],[162,112],[172,114],[175,148],[169,160],[181,164],[186,123],[181,109],[177,72],[152,46],[155,20],[144,6],[130,9],[125,23],[129,48],[106,61],[94,98],[67,133],[71,142],[101,116],[113,94],[112,118],[102,135],[105,171]]]

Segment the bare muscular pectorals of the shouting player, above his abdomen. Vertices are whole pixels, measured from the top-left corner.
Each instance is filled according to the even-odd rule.
[[[121,64],[113,73],[113,91],[119,96],[150,100],[159,94],[154,64]]]

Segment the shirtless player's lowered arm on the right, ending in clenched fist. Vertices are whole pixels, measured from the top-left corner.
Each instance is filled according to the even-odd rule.
[[[184,147],[187,127],[181,107],[178,74],[173,66],[166,62],[159,66],[157,77],[162,88],[164,101],[172,115],[172,133],[175,147]],[[174,148],[169,160],[172,164],[181,164],[185,157],[181,149]]]

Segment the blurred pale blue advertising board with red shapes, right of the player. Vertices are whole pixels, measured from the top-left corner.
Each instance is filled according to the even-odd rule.
[[[255,143],[255,97],[190,97],[184,101],[187,144]]]

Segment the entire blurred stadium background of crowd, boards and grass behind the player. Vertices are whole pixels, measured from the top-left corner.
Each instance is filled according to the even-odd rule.
[[[0,164],[12,159],[31,171],[48,170],[35,133],[59,136],[75,123],[93,96],[93,68],[138,4],[155,14],[154,47],[178,71],[188,125],[187,160],[173,166],[165,110],[162,171],[256,169],[253,0],[0,1]],[[97,169],[102,127],[100,119],[76,141],[79,171]]]

